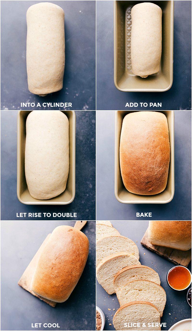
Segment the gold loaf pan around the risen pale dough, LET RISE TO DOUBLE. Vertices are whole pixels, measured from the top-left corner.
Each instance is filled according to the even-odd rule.
[[[33,198],[25,179],[26,118],[31,111],[21,110],[17,117],[17,196],[25,205],[68,205],[75,197],[75,112],[62,111],[69,120],[69,175],[64,192],[48,200]]]

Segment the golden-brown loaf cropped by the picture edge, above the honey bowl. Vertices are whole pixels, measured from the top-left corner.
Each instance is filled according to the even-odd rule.
[[[152,245],[188,251],[191,249],[191,221],[149,221],[148,238]]]

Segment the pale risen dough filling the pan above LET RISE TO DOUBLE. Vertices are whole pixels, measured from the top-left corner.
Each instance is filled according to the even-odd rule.
[[[45,200],[66,188],[69,121],[60,111],[33,111],[26,120],[25,177],[30,195]]]

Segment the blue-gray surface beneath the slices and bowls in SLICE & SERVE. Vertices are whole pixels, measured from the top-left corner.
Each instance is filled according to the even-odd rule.
[[[161,330],[169,330],[169,328],[176,322],[191,318],[191,307],[187,304],[186,293],[187,290],[174,291],[169,287],[166,281],[166,275],[169,269],[175,264],[168,261],[156,253],[149,251],[140,244],[140,241],[148,227],[147,221],[112,221],[112,225],[116,228],[122,236],[128,237],[135,242],[139,249],[139,261],[142,265],[147,265],[158,272],[161,286],[164,288],[167,296],[167,302],[161,318],[161,323],[166,323],[166,327]],[[137,242],[136,242],[137,241]],[[145,255],[144,255],[145,253]],[[188,266],[191,271],[191,262]],[[190,285],[191,286],[191,285]],[[96,305],[105,314],[104,330],[115,330],[113,327],[113,316],[120,307],[116,294],[109,295],[96,281]],[[111,309],[110,311],[108,310]],[[115,310],[113,310],[115,309]],[[113,315],[113,316],[111,316]],[[125,321],[127,322],[127,321]],[[111,323],[111,325],[109,325]]]

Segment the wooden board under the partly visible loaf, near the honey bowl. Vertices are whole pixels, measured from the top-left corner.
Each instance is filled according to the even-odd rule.
[[[143,238],[141,239],[141,245],[145,246],[150,251],[163,256],[167,260],[172,261],[175,264],[180,264],[187,267],[191,261],[191,249],[188,251],[179,251],[173,248],[152,245],[148,239],[148,228]]]

